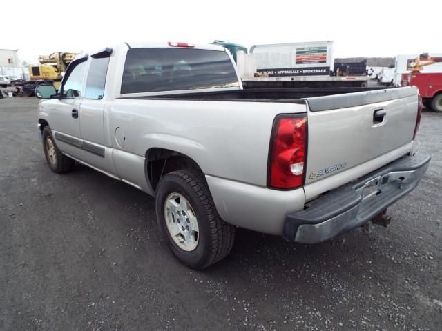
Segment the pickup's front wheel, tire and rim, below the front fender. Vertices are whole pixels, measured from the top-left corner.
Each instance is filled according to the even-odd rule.
[[[66,155],[58,149],[49,126],[44,127],[43,132],[41,132],[41,138],[43,140],[44,155],[50,170],[57,174],[62,174],[72,171],[75,168],[75,161],[70,159],[70,157],[66,157]],[[54,151],[50,151],[50,143],[52,143]]]

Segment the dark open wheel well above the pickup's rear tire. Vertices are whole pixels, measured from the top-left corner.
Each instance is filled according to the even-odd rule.
[[[151,148],[146,152],[146,176],[153,190],[156,190],[161,177],[180,169],[202,172],[198,163],[180,152],[165,148]]]

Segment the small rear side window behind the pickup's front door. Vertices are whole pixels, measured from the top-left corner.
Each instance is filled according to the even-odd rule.
[[[86,90],[84,91],[84,97],[86,99],[103,99],[109,59],[109,57],[104,57],[101,59],[90,60],[88,79],[86,80]]]

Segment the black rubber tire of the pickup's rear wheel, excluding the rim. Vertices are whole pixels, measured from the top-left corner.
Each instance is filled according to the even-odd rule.
[[[198,222],[198,244],[191,251],[186,251],[175,243],[166,225],[164,204],[169,194],[175,192],[182,194],[189,201]],[[230,253],[236,229],[221,219],[201,172],[178,170],[162,177],[157,185],[155,211],[169,248],[185,265],[204,269],[224,259]]]

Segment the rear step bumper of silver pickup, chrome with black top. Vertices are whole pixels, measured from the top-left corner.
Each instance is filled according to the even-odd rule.
[[[374,218],[419,184],[430,157],[403,157],[371,174],[332,190],[287,216],[283,237],[298,243],[319,243]]]

